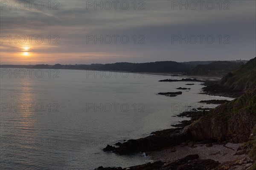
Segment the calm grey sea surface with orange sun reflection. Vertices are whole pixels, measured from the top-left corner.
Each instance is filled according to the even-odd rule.
[[[171,76],[47,69],[25,74],[24,70],[1,69],[1,170],[144,164],[151,160],[143,154],[119,156],[102,149],[170,128],[181,120],[174,115],[186,109],[217,106],[198,101],[224,99],[198,94],[203,87],[198,82],[158,82],[175,79]],[[183,94],[157,95],[176,91]]]

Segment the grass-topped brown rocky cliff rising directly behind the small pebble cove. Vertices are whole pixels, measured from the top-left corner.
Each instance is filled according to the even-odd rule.
[[[256,90],[210,110],[189,126],[194,140],[248,141],[256,124]]]

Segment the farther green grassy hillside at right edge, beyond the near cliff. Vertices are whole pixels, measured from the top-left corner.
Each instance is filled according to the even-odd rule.
[[[256,58],[230,72],[220,81],[221,86],[250,91],[256,88]]]

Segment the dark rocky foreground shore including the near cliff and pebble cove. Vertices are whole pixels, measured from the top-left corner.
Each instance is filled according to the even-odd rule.
[[[157,160],[129,167],[129,170],[191,170],[192,167],[196,170],[249,170],[254,160],[248,154],[255,154],[252,150],[256,143],[256,116],[250,110],[256,106],[255,95],[256,90],[215,109],[182,112],[177,116],[191,119],[173,125],[174,129],[157,131],[116,146],[108,145],[104,150],[121,155],[145,152]],[[241,112],[235,116],[234,110]],[[98,170],[112,169],[99,167]]]

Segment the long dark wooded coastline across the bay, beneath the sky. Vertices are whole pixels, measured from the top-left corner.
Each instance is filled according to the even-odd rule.
[[[181,78],[200,78],[220,80],[224,75],[243,65],[247,61],[157,61],[150,63],[110,63],[110,64],[75,64],[75,65],[11,65],[2,64],[0,68],[17,69],[73,69],[102,72],[135,72],[138,74],[167,75]],[[211,78],[211,79],[209,79]]]

